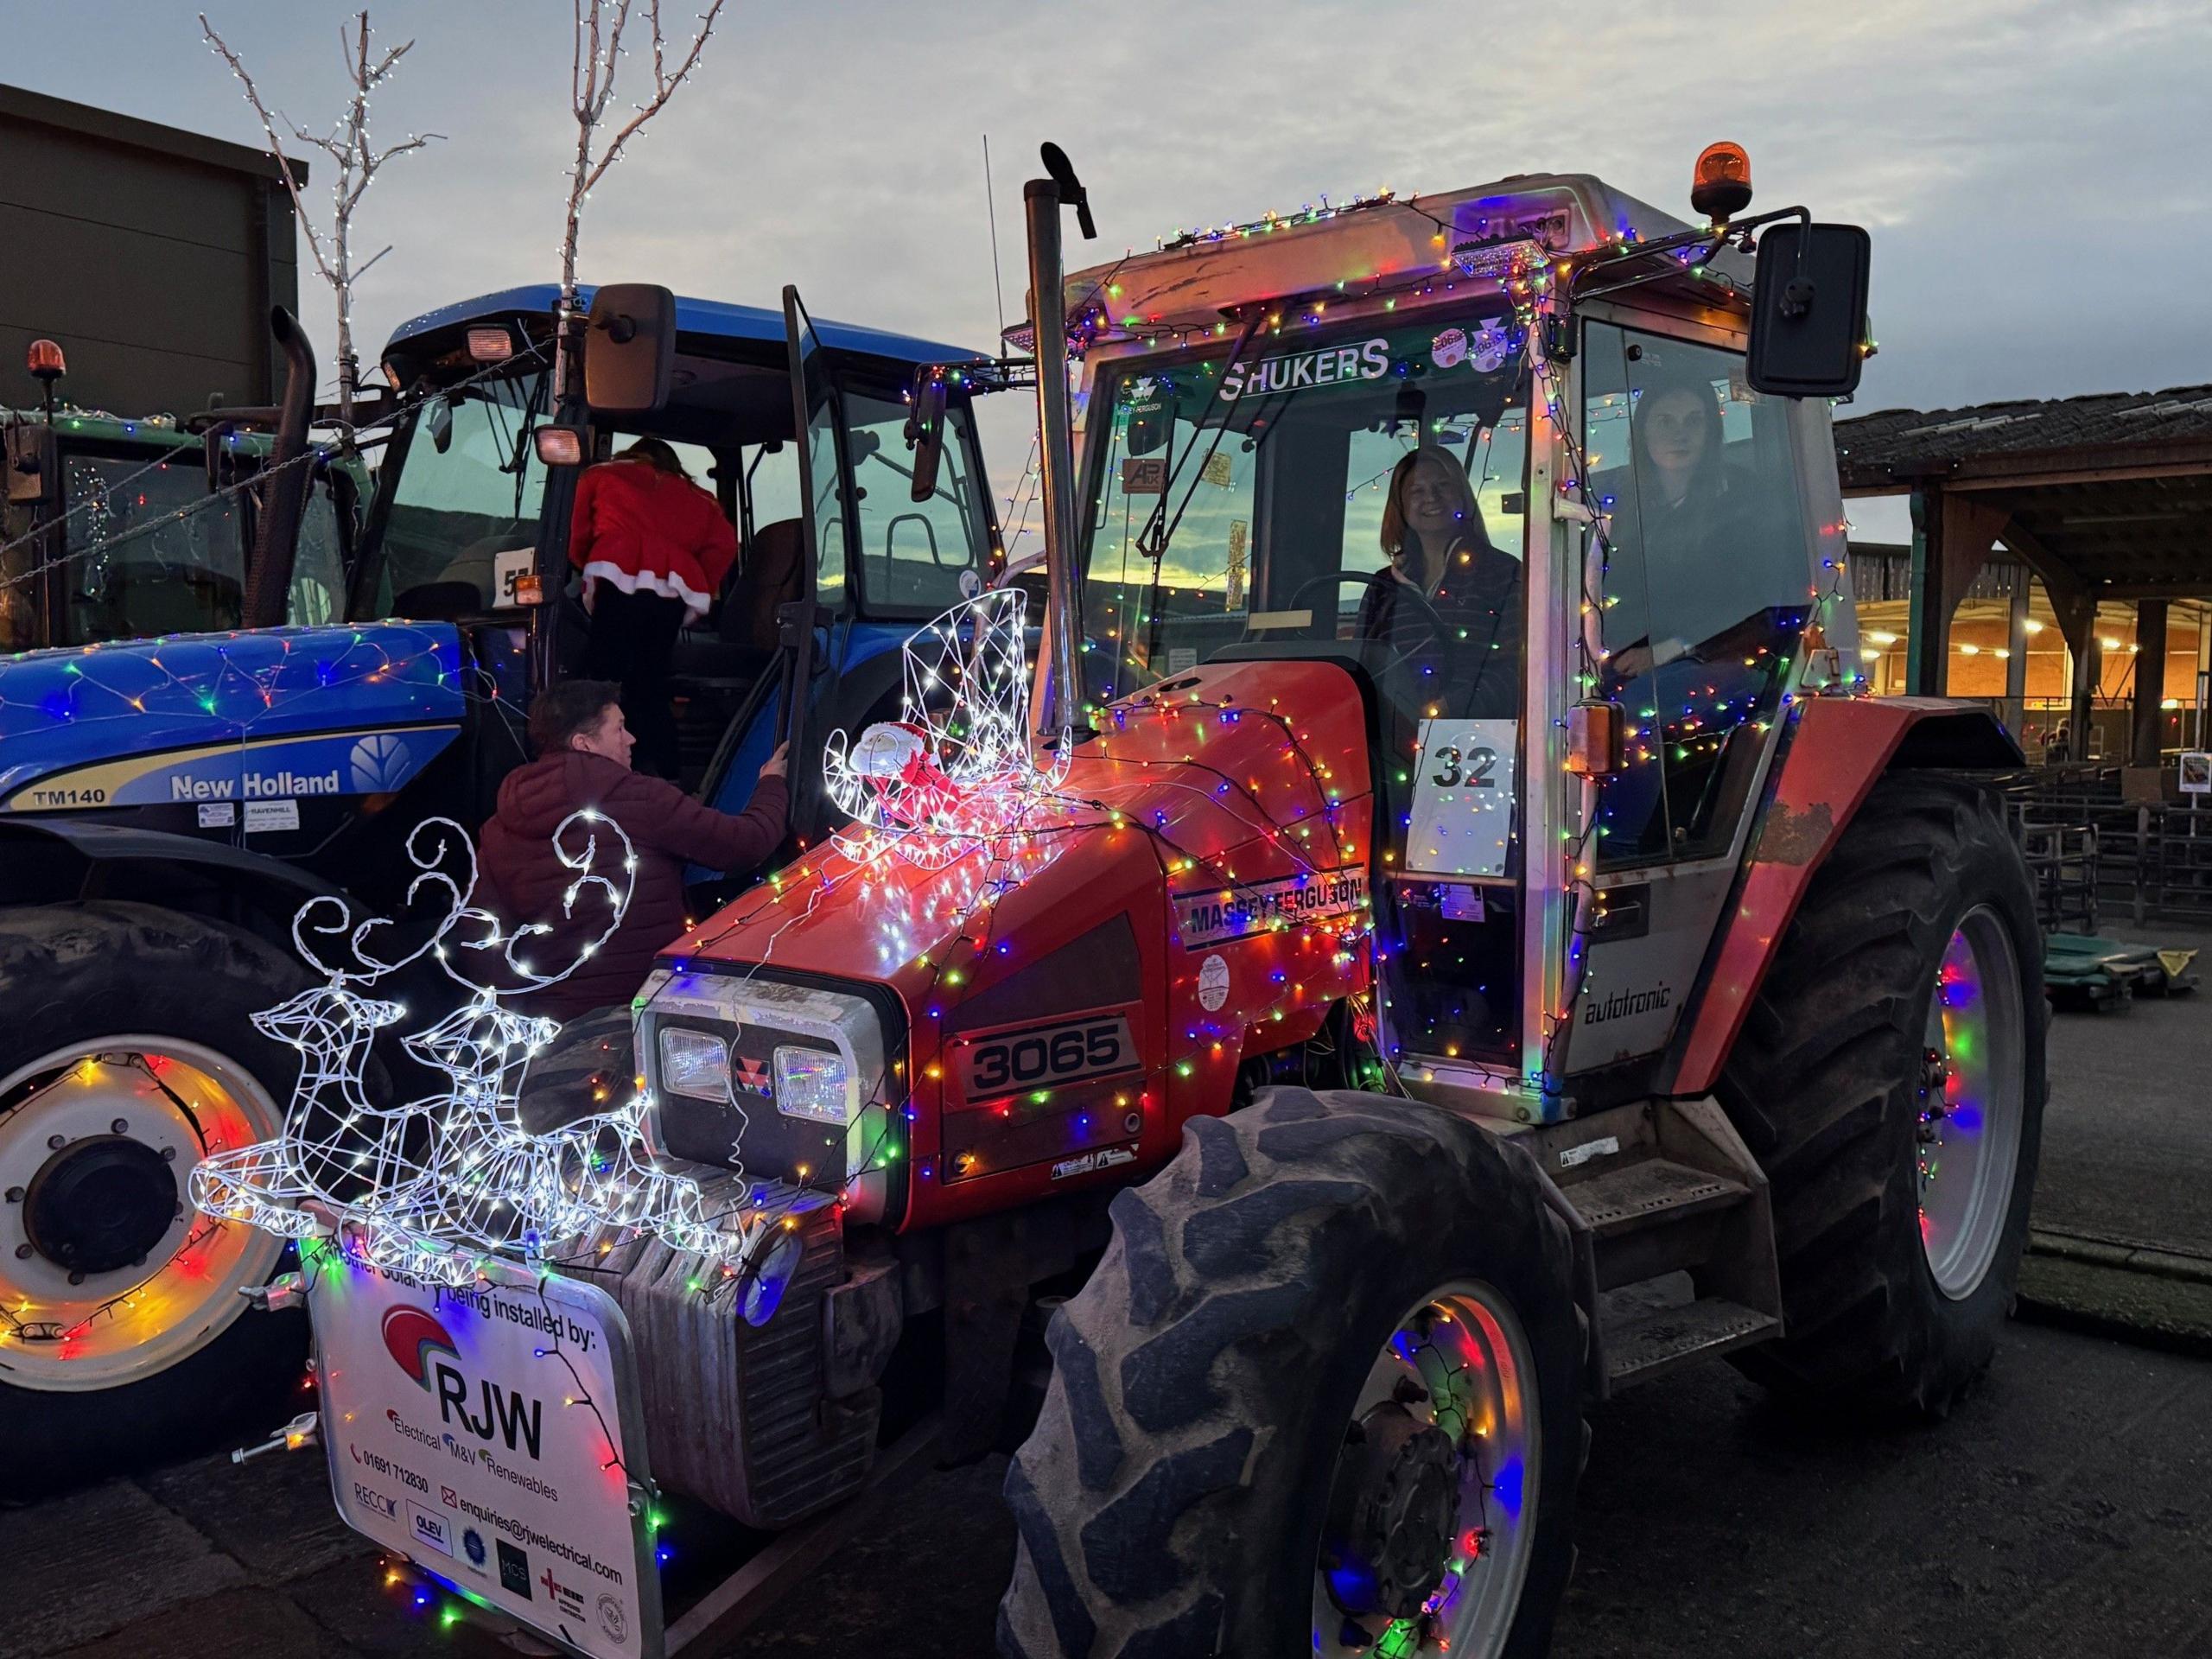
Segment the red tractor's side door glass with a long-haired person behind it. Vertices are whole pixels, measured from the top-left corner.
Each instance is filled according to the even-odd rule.
[[[1608,515],[1604,695],[1628,710],[1599,863],[1723,854],[1812,608],[1787,411],[1730,352],[1593,323],[1584,445]]]

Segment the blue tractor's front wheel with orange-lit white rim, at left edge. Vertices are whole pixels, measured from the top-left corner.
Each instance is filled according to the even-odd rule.
[[[0,916],[0,1491],[51,1491],[292,1416],[305,1314],[239,1294],[283,1241],[190,1203],[283,1124],[299,1060],[252,1015],[305,984],[150,905]]]

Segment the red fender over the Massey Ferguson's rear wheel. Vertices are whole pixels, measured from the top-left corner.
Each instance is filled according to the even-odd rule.
[[[1814,872],[1885,772],[2020,763],[2020,745],[1980,703],[1949,697],[1798,701],[1732,905],[1681,1033],[1659,1066],[1657,1093],[1712,1091]]]

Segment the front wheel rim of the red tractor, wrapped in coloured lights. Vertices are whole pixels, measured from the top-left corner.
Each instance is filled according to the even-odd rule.
[[[1504,1652],[1540,1458],[1535,1360],[1513,1305],[1480,1281],[1413,1303],[1360,1385],[1332,1471],[1314,1655]]]

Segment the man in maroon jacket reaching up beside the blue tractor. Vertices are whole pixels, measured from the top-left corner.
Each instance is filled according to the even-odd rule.
[[[637,878],[622,927],[575,973],[518,1002],[529,1013],[575,1020],[619,1004],[644,984],[653,958],[690,925],[684,914],[684,867],[708,865],[730,876],[757,869],[783,841],[785,750],[761,768],[743,812],[714,812],[675,783],[630,770],[622,690],[604,679],[568,679],[531,703],[538,759],[500,785],[500,810],[478,838],[478,902],[507,925],[544,922],[551,933],[531,945],[538,962],[568,962],[604,925],[604,911],[577,905],[562,916],[562,894],[575,880],[553,852],[560,821],[597,807],[622,825],[637,849]],[[785,745],[787,748],[787,745]]]

